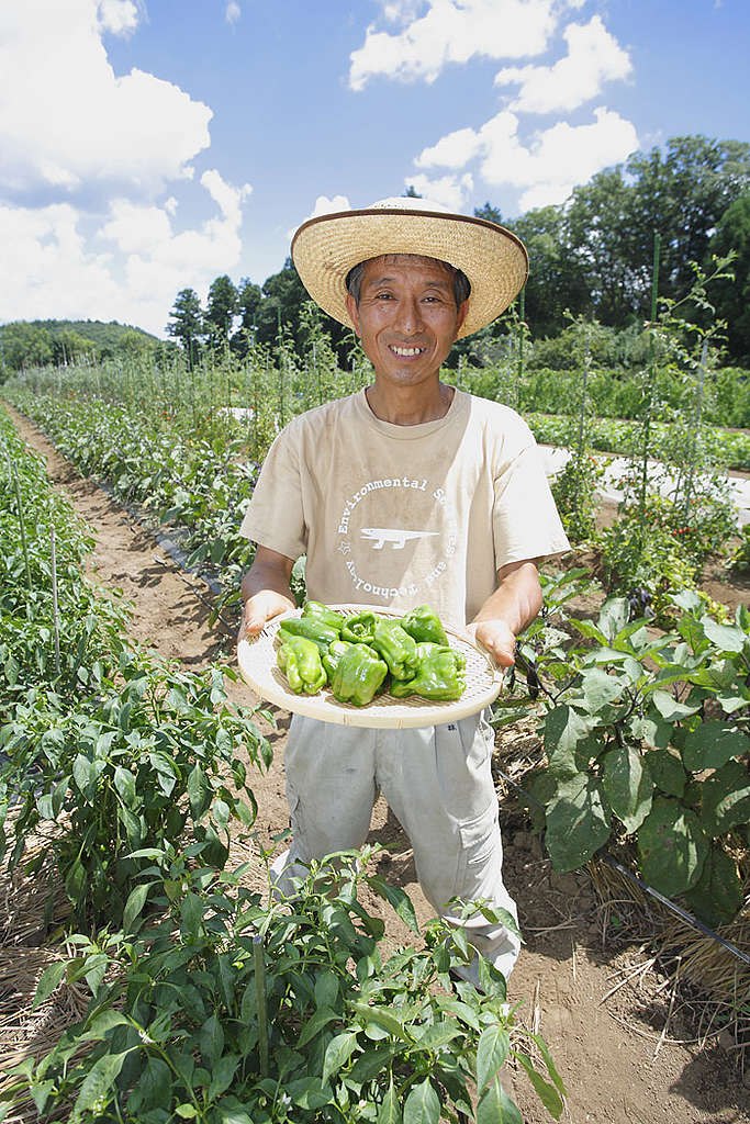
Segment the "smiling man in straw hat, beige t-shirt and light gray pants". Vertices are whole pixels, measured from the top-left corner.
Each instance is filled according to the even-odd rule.
[[[430,604],[473,633],[500,667],[542,604],[536,561],[568,547],[525,423],[440,381],[453,342],[498,316],[522,288],[522,244],[493,223],[423,199],[390,199],[304,224],[292,256],[310,296],[354,328],[374,368],[367,390],[295,418],[263,464],[242,531],[257,543],[243,579],[253,635],[308,597],[408,610]],[[509,910],[484,716],[376,731],[295,715],[284,765],[293,842],[273,865],[361,846],[381,790],[408,834],[431,904],[464,924],[507,977],[517,939],[449,900]],[[477,982],[477,961],[466,976]]]

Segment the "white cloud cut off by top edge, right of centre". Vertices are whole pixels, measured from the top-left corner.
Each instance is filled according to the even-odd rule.
[[[363,46],[350,56],[352,90],[362,90],[376,75],[434,82],[449,63],[472,57],[533,57],[546,49],[558,18],[554,0],[426,2],[423,16],[404,0],[385,6],[389,21],[406,26],[396,34],[368,27]]]

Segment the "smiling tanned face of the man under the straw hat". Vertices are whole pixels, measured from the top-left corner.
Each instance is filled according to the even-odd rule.
[[[359,308],[346,308],[381,383],[415,387],[439,377],[463,324],[453,277],[432,257],[385,254],[368,262]]]

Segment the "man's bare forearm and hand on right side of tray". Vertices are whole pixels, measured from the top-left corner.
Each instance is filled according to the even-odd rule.
[[[542,587],[533,560],[509,562],[497,571],[497,588],[469,625],[469,631],[501,668],[515,662],[516,636],[542,607]]]

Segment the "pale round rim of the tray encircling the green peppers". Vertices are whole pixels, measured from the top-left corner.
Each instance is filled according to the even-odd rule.
[[[371,610],[383,617],[401,617],[406,610],[383,608],[377,605],[361,605],[355,602],[336,602],[328,606],[331,609],[360,613]],[[308,718],[317,718],[320,722],[332,723],[342,726],[361,726],[370,729],[409,729],[426,726],[437,726],[444,723],[459,722],[478,714],[495,701],[503,687],[505,671],[493,660],[490,653],[482,647],[470,633],[460,631],[450,625],[443,625],[449,641],[458,641],[473,651],[481,658],[486,665],[487,689],[477,698],[455,699],[453,701],[433,703],[424,700],[424,704],[412,701],[406,704],[403,699],[392,699],[390,696],[378,696],[378,703],[373,706],[355,707],[334,699],[331,691],[319,691],[316,695],[295,695],[283,688],[275,679],[271,678],[269,668],[265,678],[257,678],[253,673],[251,663],[251,652],[255,645],[264,641],[268,646],[275,641],[279,626],[282,620],[301,616],[301,608],[289,609],[268,620],[261,632],[252,637],[241,637],[237,642],[237,663],[242,678],[251,687],[259,698],[288,710],[291,714],[304,715]]]

